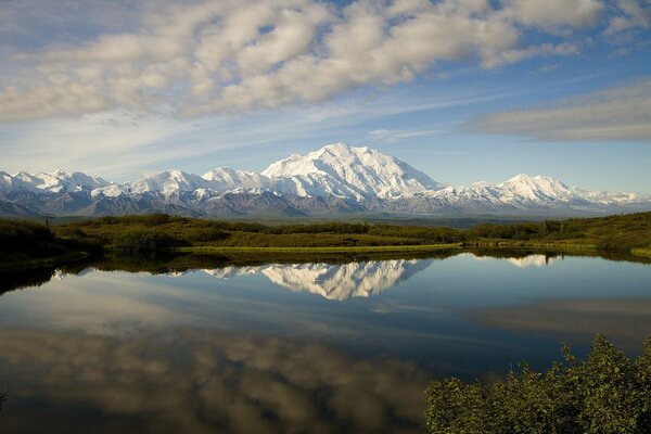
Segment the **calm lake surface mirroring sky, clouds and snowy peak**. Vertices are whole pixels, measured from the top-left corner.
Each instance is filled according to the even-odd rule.
[[[58,272],[0,296],[0,432],[423,432],[430,379],[546,369],[597,332],[639,353],[651,266],[461,254]]]

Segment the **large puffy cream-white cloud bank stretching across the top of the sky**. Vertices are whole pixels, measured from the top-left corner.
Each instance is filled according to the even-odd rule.
[[[558,42],[558,36],[595,25],[603,10],[598,0],[509,0],[500,7],[487,0],[357,0],[346,7],[143,0],[117,3],[135,11],[136,23],[103,24],[101,34],[77,24],[73,41],[48,44],[41,35],[35,49],[15,42],[16,33],[31,28],[18,3],[1,15],[13,23],[13,37],[0,47],[11,64],[0,69],[9,74],[0,76],[0,120],[118,107],[197,116],[320,102],[362,86],[409,81],[445,61],[476,59],[494,68],[573,54],[576,42]],[[116,7],[102,4],[98,14],[119,16]],[[89,8],[80,14],[85,20]],[[74,22],[71,11],[62,7],[56,16]],[[527,29],[550,39],[529,43]]]

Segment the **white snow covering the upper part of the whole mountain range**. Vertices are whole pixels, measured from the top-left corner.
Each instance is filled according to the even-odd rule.
[[[228,167],[197,176],[181,170],[166,170],[132,182],[114,184],[82,173],[30,175],[0,171],[0,191],[31,191],[36,193],[89,192],[92,197],[130,197],[161,194],[167,199],[189,193],[199,201],[210,200],[226,192],[247,192],[276,195],[336,196],[362,202],[381,199],[418,199],[434,204],[454,205],[460,209],[482,207],[498,209],[515,207],[585,207],[626,205],[650,201],[635,193],[589,192],[570,188],[548,176],[519,174],[492,184],[481,181],[468,187],[445,187],[408,165],[367,146],[355,148],[333,143],[305,155],[294,154],[276,162],[261,174],[234,170]]]

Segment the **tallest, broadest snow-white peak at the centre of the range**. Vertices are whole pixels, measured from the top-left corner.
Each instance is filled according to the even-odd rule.
[[[369,148],[334,143],[271,164],[263,175],[285,194],[398,199],[443,188],[407,163]]]

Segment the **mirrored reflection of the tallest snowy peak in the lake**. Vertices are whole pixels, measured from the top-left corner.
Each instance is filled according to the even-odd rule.
[[[348,264],[270,264],[204,271],[218,279],[259,273],[293,292],[309,292],[328,299],[344,301],[378,295],[424,270],[432,261],[393,259]]]

